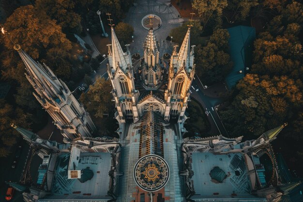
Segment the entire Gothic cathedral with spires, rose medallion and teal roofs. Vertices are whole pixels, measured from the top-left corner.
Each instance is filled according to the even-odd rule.
[[[278,202],[299,183],[283,183],[271,141],[285,126],[257,140],[214,134],[183,138],[190,87],[195,75],[191,27],[169,62],[159,57],[151,28],[144,56],[133,65],[114,27],[107,73],[119,123],[119,139],[98,137],[89,113],[46,64],[35,62],[19,45],[33,95],[61,130],[64,144],[43,140],[14,126],[30,145],[20,182],[10,182],[26,202]],[[30,161],[43,163],[32,181]],[[265,176],[260,157],[272,162]],[[266,180],[266,179],[269,180]]]

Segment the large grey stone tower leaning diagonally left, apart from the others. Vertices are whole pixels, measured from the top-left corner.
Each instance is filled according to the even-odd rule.
[[[52,117],[64,138],[91,137],[95,125],[66,84],[48,66],[35,62],[19,45],[14,49],[26,66],[25,76],[37,93],[33,95]]]

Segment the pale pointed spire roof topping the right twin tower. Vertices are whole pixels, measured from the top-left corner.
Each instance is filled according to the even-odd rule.
[[[189,57],[190,57],[190,27],[188,28],[184,40],[182,42],[182,46],[180,47],[180,51],[177,59],[177,68],[179,69],[183,62],[185,62],[186,67],[189,67]]]

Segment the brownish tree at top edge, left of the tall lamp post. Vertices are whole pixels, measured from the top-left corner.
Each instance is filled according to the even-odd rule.
[[[73,0],[36,0],[35,7],[57,20],[64,31],[76,33],[82,31],[81,17],[73,11],[75,7]]]

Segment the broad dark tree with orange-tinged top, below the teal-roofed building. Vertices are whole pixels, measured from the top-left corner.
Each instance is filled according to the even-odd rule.
[[[237,84],[238,94],[221,112],[226,126],[235,136],[241,133],[260,135],[274,125],[297,116],[302,105],[301,83],[287,76],[273,77],[247,74]]]

